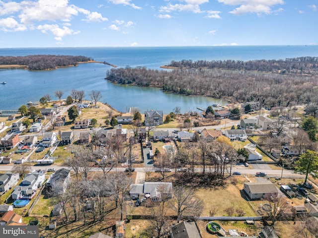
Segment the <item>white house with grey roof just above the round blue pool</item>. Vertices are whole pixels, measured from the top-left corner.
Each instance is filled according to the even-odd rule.
[[[45,174],[36,172],[26,174],[21,183],[13,188],[11,198],[13,200],[32,199],[36,195],[36,189],[42,186],[44,180]]]

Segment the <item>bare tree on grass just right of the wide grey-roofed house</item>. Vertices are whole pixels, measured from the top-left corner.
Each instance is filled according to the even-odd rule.
[[[173,210],[177,214],[177,222],[182,216],[200,216],[204,209],[203,202],[194,196],[195,189],[190,187],[177,186],[173,188]]]

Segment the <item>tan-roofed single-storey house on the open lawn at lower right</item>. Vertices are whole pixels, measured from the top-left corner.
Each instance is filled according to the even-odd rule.
[[[251,200],[261,199],[266,196],[277,196],[281,194],[275,184],[271,182],[244,182],[243,190]]]

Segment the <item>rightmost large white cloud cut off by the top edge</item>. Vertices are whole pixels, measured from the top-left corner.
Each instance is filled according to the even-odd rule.
[[[243,15],[246,13],[271,14],[271,8],[277,4],[284,4],[284,0],[218,0],[226,5],[240,5],[230,13]]]

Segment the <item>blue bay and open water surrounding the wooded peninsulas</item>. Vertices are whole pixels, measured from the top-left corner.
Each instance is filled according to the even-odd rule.
[[[107,61],[120,67],[146,66],[158,68],[171,60],[257,60],[318,56],[318,46],[242,46],[242,47],[163,47],[163,48],[18,48],[0,49],[0,56],[27,56],[37,54],[83,55],[94,60]],[[84,90],[86,99],[91,90],[102,93],[102,102],[126,112],[129,107],[145,110],[163,110],[169,113],[176,106],[182,112],[206,108],[212,103],[225,105],[225,100],[206,97],[181,96],[164,93],[158,88],[116,85],[106,80],[111,66],[86,63],[77,67],[51,71],[22,69],[0,70],[0,110],[17,109],[29,101],[36,102],[45,94],[56,99],[56,90],[64,91],[66,98],[72,89]]]

